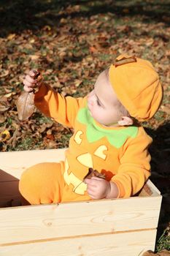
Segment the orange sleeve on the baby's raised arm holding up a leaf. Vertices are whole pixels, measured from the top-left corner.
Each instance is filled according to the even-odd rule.
[[[35,94],[35,105],[45,116],[54,118],[66,127],[74,127],[77,111],[85,98],[63,97],[52,87],[42,84]]]

